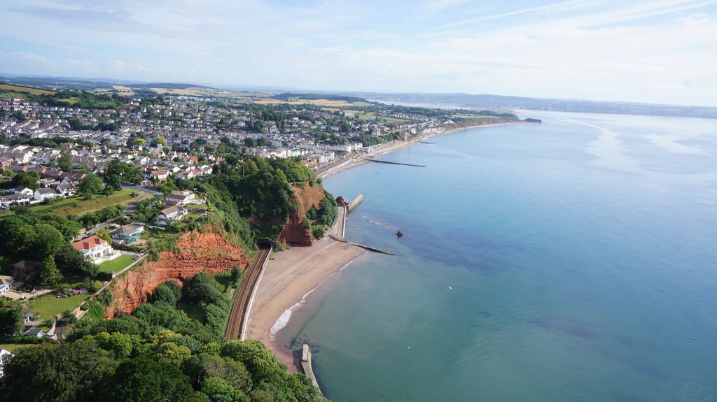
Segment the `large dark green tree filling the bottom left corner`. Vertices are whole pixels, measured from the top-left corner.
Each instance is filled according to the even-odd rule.
[[[115,366],[93,343],[44,343],[21,348],[5,364],[6,401],[93,401],[95,386]]]

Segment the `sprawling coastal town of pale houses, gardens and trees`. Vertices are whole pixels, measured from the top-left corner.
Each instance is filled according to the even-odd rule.
[[[0,300],[23,321],[2,348],[61,340],[114,278],[198,227],[212,203],[192,183],[217,169],[243,175],[243,161],[261,157],[320,171],[386,144],[517,121],[352,97],[122,92],[0,84]]]

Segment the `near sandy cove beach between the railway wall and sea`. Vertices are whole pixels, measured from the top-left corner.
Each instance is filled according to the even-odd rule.
[[[292,354],[275,343],[272,328],[281,327],[277,322],[282,315],[300,303],[307,293],[364,253],[367,252],[361,247],[328,236],[311,247],[296,246],[275,253],[257,287],[247,323],[247,338],[261,340],[290,372],[295,372]],[[287,318],[285,315],[282,320]]]

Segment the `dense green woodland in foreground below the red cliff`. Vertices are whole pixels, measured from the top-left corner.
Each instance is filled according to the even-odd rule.
[[[227,274],[222,280],[240,280],[238,269]],[[223,340],[226,288],[205,273],[184,287],[168,281],[113,320],[103,320],[111,298],[93,300],[67,342],[16,351],[0,401],[326,401],[260,341]],[[184,309],[201,313],[189,318]]]

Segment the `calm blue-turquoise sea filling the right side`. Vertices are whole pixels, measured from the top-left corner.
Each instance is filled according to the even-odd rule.
[[[397,253],[280,333],[333,401],[717,401],[717,121],[526,117],[324,180]]]

